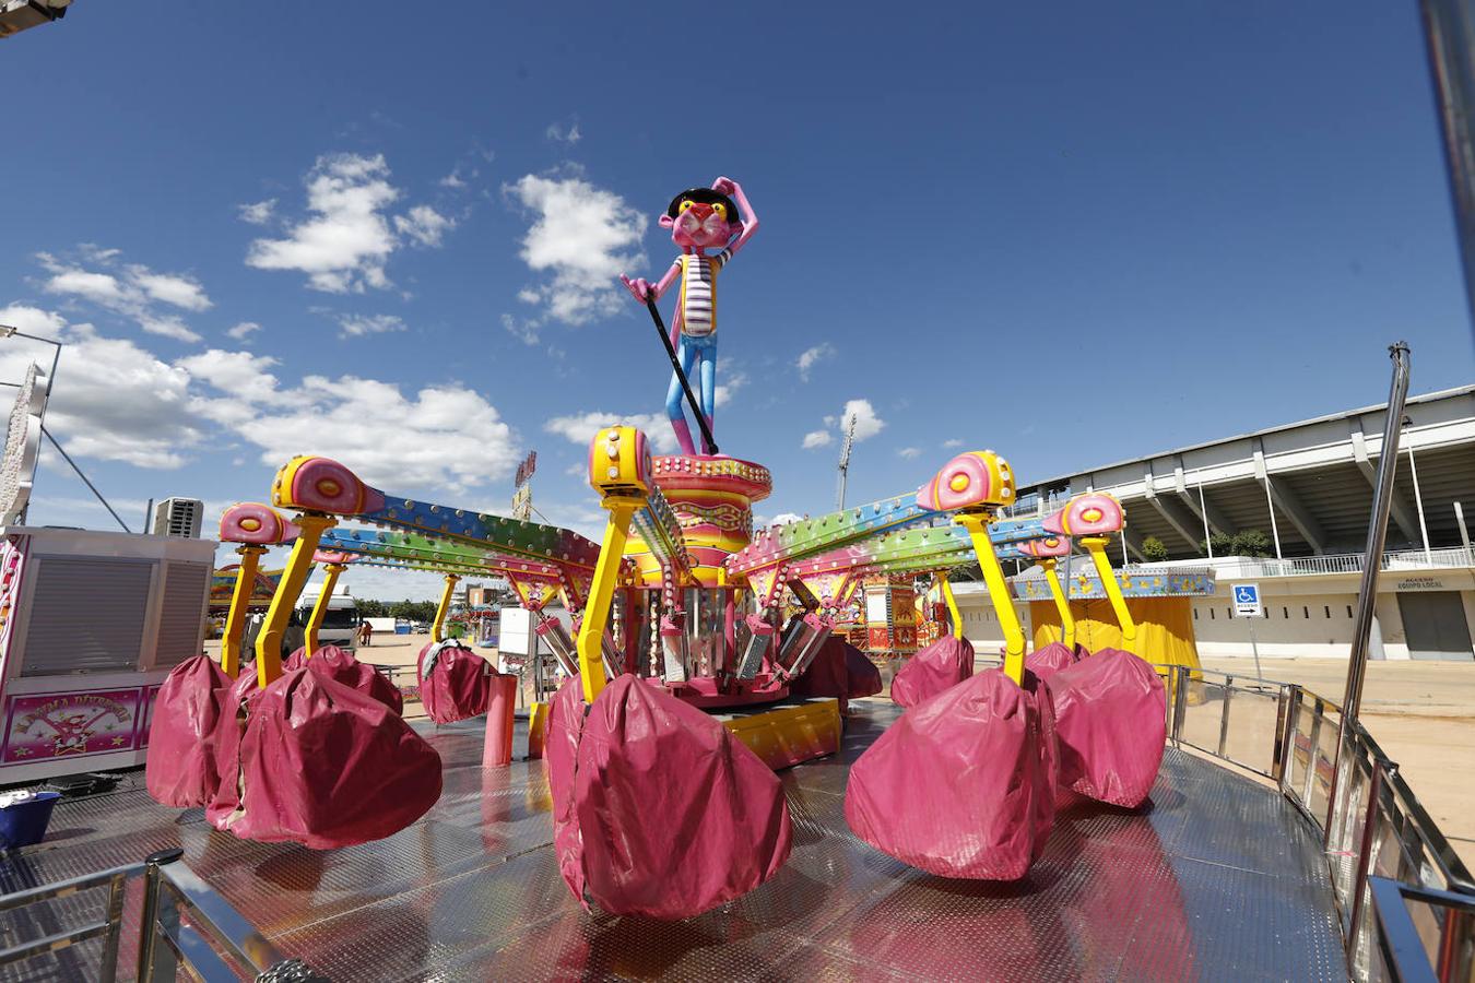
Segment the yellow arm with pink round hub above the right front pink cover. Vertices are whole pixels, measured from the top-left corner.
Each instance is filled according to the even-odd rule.
[[[968,531],[978,554],[978,566],[988,587],[988,597],[1004,632],[1004,674],[1016,684],[1024,681],[1024,629],[1004,582],[1004,572],[994,553],[988,526],[994,510],[1015,500],[1013,472],[1009,461],[993,451],[959,454],[917,491],[917,506],[951,511],[953,522]]]

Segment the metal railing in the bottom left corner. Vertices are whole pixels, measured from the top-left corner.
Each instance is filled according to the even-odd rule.
[[[257,931],[224,898],[195,871],[180,864],[184,850],[176,847],[150,855],[142,864],[125,864],[97,874],[0,896],[0,912],[21,912],[72,895],[108,889],[105,917],[75,928],[0,949],[0,967],[24,962],[49,952],[103,936],[97,970],[87,979],[112,983],[118,977],[127,884],[143,878],[139,917],[137,979],[173,982],[178,970],[189,979],[224,980],[322,980],[298,959],[288,959]],[[12,915],[13,917],[13,915]]]

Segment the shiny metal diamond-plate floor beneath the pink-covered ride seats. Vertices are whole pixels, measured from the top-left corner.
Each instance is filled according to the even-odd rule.
[[[237,840],[198,809],[155,805],[136,774],[59,805],[46,843],[0,859],[0,892],[181,846],[283,952],[339,982],[1347,979],[1319,839],[1274,790],[1170,749],[1150,808],[1074,799],[1025,880],[945,880],[845,825],[848,762],[897,716],[851,707],[839,756],[783,772],[785,868],[683,923],[584,912],[558,875],[541,762],[484,771],[476,721],[425,728],[445,791],[388,840],[324,852]],[[94,895],[0,923],[0,946],[97,917]],[[137,896],[134,884],[130,965]],[[99,952],[100,940],[0,979],[91,979]]]

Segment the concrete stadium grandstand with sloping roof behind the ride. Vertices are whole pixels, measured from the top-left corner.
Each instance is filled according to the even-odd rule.
[[[1364,407],[1062,475],[1021,486],[1013,514],[1108,491],[1127,508],[1118,562],[1214,567],[1217,594],[1193,600],[1201,654],[1249,656],[1255,647],[1264,657],[1345,657],[1385,417],[1386,404]],[[1375,659],[1475,660],[1466,507],[1475,507],[1475,386],[1410,396],[1381,560]],[[1252,529],[1266,535],[1268,557],[1211,556],[1215,534]],[[1146,562],[1149,538],[1168,560]],[[1260,585],[1263,619],[1233,618],[1233,587],[1246,582]],[[1002,634],[987,597],[959,588],[969,638],[997,648]]]

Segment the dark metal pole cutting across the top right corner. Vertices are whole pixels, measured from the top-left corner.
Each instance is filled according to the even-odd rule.
[[[1434,103],[1444,136],[1450,192],[1454,197],[1454,228],[1465,258],[1465,293],[1475,314],[1475,65],[1471,35],[1475,12],[1465,0],[1420,0],[1423,35],[1429,46]]]

